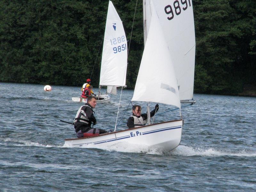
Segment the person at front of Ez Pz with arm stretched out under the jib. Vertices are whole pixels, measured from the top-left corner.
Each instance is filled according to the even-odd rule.
[[[158,111],[159,105],[156,104],[155,109],[150,112],[150,117],[154,116],[155,113]],[[147,123],[148,114],[140,114],[141,107],[139,105],[134,105],[132,107],[132,115],[128,118],[126,125],[129,129],[134,127],[140,127]]]

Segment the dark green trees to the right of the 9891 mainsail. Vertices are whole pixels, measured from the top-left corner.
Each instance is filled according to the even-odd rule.
[[[237,94],[253,84],[256,2],[195,0],[193,6],[195,92]]]

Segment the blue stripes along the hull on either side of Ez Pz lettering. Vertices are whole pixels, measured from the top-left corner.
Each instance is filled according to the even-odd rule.
[[[156,129],[156,130],[153,130],[153,131],[142,132],[142,135],[147,135],[147,134],[151,134],[151,133],[167,131],[167,130],[171,130],[171,129],[180,129],[180,128],[181,128],[181,126],[166,127],[166,128],[162,128],[162,129]],[[73,144],[73,145],[89,145],[89,144],[97,145],[97,144],[100,144],[100,143],[107,143],[107,142],[111,142],[111,141],[127,139],[127,138],[130,138],[130,137],[131,137],[130,135],[126,135],[126,136],[122,136],[122,137],[118,137],[118,138],[114,138],[114,139],[95,141],[95,142],[90,142],[90,143]]]

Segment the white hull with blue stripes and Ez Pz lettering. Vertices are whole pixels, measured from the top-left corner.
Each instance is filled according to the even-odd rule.
[[[146,125],[98,136],[65,139],[66,147],[106,148],[115,144],[145,145],[164,151],[178,147],[181,140],[182,119]]]

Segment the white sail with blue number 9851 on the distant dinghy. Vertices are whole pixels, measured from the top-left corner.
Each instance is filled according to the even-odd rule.
[[[109,1],[101,58],[100,85],[125,85],[127,48],[123,23],[114,5]]]

